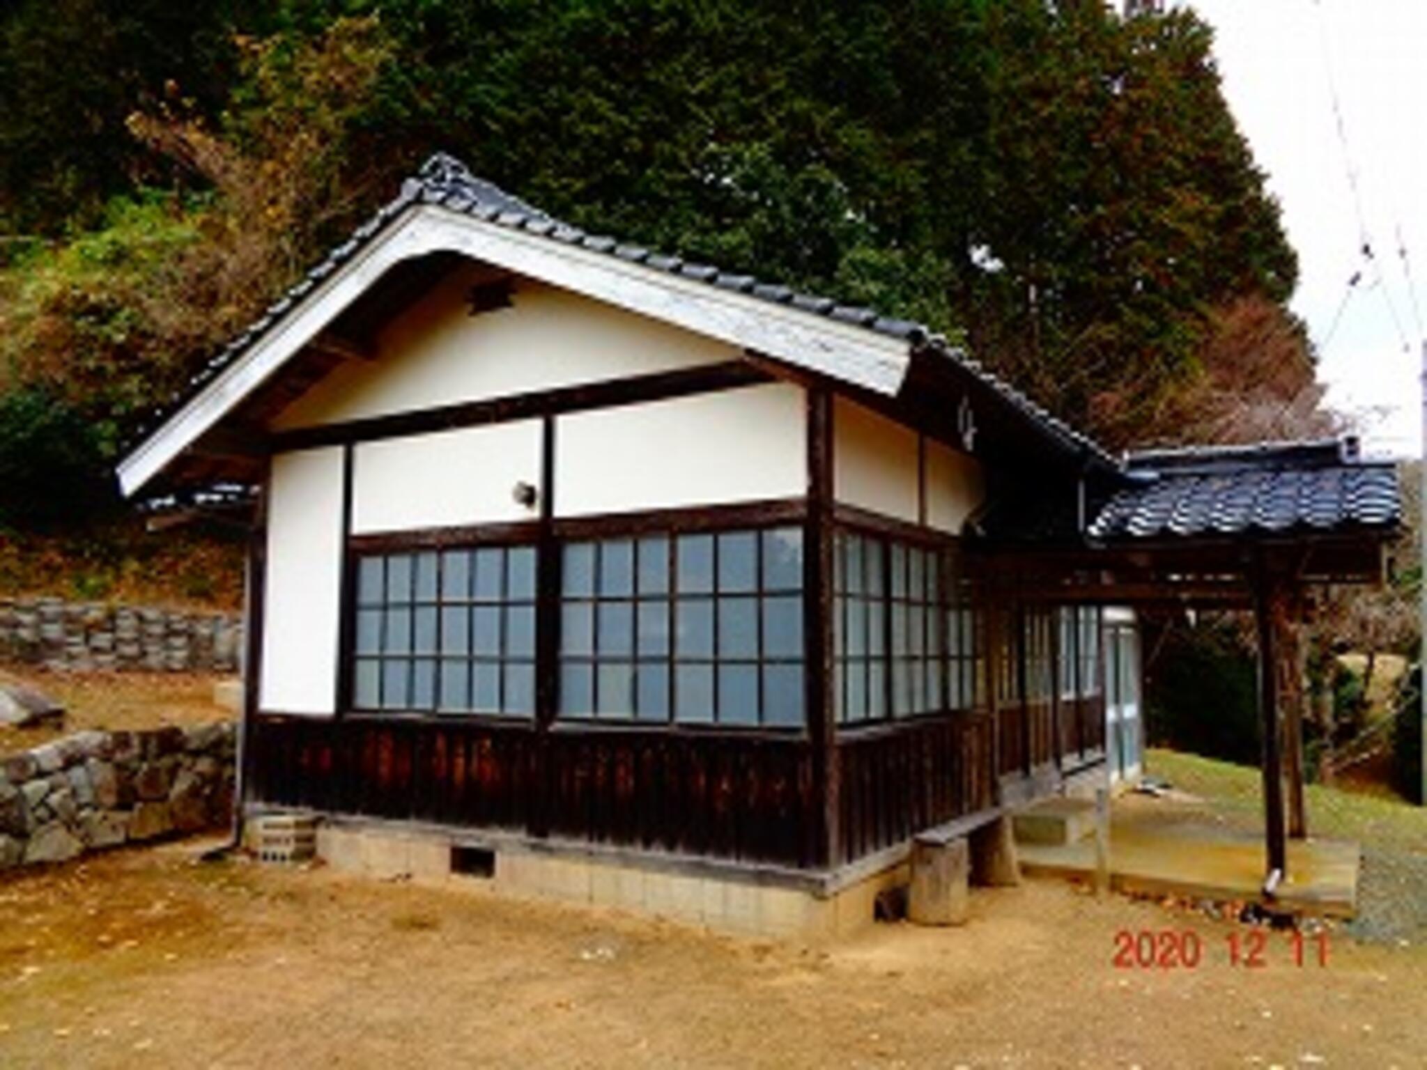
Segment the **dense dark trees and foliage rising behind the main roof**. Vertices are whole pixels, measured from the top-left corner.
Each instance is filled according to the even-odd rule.
[[[83,331],[60,332],[80,335],[78,348],[37,360],[30,347],[24,362],[81,375],[87,361],[113,364],[124,385],[74,391],[98,421],[163,398],[174,368],[203,360],[220,330],[435,148],[574,223],[926,320],[1113,444],[1179,434],[1160,414],[1200,372],[1216,310],[1244,295],[1281,308],[1294,282],[1277,208],[1220,94],[1212,34],[1187,10],[1126,20],[1099,0],[61,7],[21,0],[0,16],[4,230],[70,235],[13,272],[53,280],[86,241],[76,227],[113,235],[133,223],[104,208],[116,195],[140,197],[160,243],[193,230],[227,248],[245,215],[281,247],[237,258],[251,264],[237,282],[214,270],[218,314],[201,322],[83,271],[50,302],[31,287],[9,317],[21,330],[97,310]],[[146,120],[126,121],[131,111]],[[143,185],[166,190],[167,221]],[[254,193],[267,190],[285,200]],[[193,264],[173,263],[190,280],[147,292],[178,288],[170,307],[195,312]],[[144,270],[126,261],[116,275]],[[116,341],[116,325],[137,341]],[[107,341],[93,344],[91,330]],[[134,371],[143,399],[127,392]]]

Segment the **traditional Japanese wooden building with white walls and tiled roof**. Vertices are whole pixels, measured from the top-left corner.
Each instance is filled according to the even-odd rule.
[[[1371,581],[1398,511],[1341,444],[1110,457],[918,324],[440,156],[120,478],[253,508],[250,812],[821,900],[1104,776],[1102,606]]]

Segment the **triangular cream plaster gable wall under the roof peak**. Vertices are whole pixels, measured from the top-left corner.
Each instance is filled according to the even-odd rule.
[[[515,280],[509,308],[471,315],[467,295],[482,270],[468,264],[451,271],[382,328],[374,360],[335,368],[274,427],[412,412],[741,357],[726,342],[529,278]]]

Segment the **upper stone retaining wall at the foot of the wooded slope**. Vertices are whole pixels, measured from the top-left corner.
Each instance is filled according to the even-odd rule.
[[[154,606],[0,598],[0,658],[51,669],[235,672],[243,619]]]

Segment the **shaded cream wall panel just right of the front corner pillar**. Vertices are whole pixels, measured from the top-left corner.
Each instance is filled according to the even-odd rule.
[[[836,398],[832,434],[833,499],[916,524],[916,432],[862,405]]]

